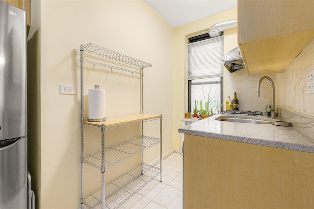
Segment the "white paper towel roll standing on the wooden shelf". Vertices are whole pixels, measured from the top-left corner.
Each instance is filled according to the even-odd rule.
[[[104,121],[106,120],[104,89],[88,90],[88,121]]]

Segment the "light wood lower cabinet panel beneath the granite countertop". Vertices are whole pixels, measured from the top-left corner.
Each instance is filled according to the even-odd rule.
[[[314,206],[314,153],[185,135],[185,209]]]

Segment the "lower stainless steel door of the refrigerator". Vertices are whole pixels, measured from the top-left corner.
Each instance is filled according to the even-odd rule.
[[[0,142],[0,209],[26,209],[27,139],[18,139],[8,146],[2,146],[2,142]]]

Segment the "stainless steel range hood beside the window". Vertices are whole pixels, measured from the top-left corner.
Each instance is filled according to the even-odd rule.
[[[227,54],[225,54],[222,58],[222,61],[224,62],[224,66],[226,67],[226,69],[228,69],[230,72],[245,69],[239,47],[235,47]]]

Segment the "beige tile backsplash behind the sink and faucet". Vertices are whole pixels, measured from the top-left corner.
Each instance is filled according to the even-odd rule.
[[[282,73],[247,75],[245,70],[230,73],[225,69],[224,101],[234,92],[240,103],[240,110],[266,112],[268,102],[272,103],[272,88],[268,80],[261,84],[261,97],[257,96],[257,84],[262,76],[269,76],[275,83],[276,107],[314,116],[314,94],[306,92],[307,72],[314,70],[314,40],[291,62]]]

